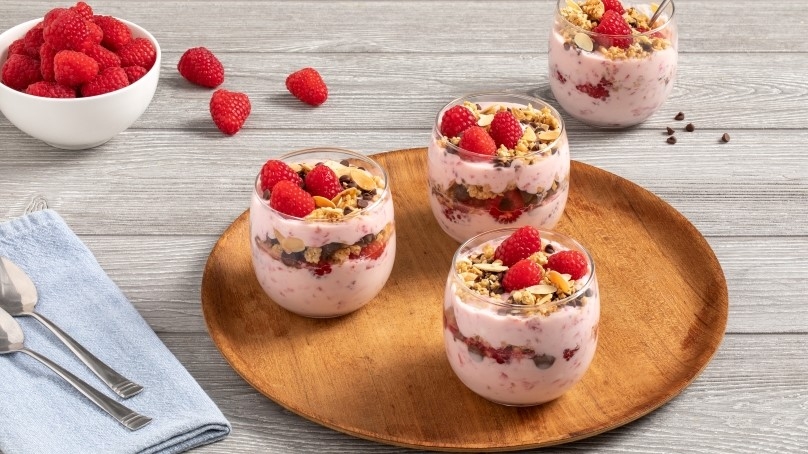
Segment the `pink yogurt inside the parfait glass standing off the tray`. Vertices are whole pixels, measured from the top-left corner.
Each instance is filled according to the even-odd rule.
[[[674,47],[642,58],[611,60],[597,51],[565,48],[564,37],[554,29],[549,49],[553,95],[564,111],[590,125],[623,128],[641,123],[662,106],[673,89]],[[599,96],[582,90],[587,86],[602,87]]]

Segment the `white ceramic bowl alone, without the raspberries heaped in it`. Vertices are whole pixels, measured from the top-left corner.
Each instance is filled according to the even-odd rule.
[[[34,19],[0,34],[0,66],[8,58],[8,46],[25,36],[42,19]],[[149,107],[160,78],[160,45],[149,32],[119,19],[133,38],[147,38],[157,51],[154,66],[128,87],[99,96],[56,99],[32,96],[0,83],[0,112],[31,137],[66,150],[97,147],[132,125]]]

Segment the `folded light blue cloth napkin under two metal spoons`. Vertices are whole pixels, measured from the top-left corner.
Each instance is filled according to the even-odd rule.
[[[3,454],[178,453],[227,436],[221,411],[56,212],[0,224],[0,255],[33,280],[37,312],[144,390],[119,398],[39,322],[16,317],[26,347],[153,418],[129,431],[45,365],[22,353],[0,355]]]

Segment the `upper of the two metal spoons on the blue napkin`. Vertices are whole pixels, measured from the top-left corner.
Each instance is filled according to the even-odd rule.
[[[34,312],[37,303],[37,293],[31,278],[11,260],[0,257],[0,308],[8,311],[9,314],[18,316],[26,315],[39,320],[46,328],[51,330],[56,337],[64,342],[67,347],[78,356],[78,358],[90,368],[115,394],[124,399],[134,396],[143,391],[143,387],[122,376],[103,361],[96,358],[87,351],[75,339],[62,331],[52,321],[43,315]]]

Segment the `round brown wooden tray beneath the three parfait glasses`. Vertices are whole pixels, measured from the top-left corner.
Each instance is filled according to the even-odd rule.
[[[427,203],[426,149],[375,156],[389,174],[398,255],[370,304],[309,319],[274,304],[255,279],[245,212],[224,232],[202,279],[213,342],[250,385],[324,426],[443,451],[527,449],[633,421],[679,394],[712,358],[727,322],[727,286],[707,242],[639,186],[579,162],[557,230],[594,256],[600,342],[583,380],[537,407],[493,404],[454,375],[442,298],[458,243]]]

